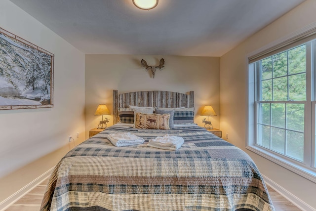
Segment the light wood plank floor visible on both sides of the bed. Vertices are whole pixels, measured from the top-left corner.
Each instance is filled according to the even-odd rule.
[[[48,179],[40,183],[40,185],[35,187],[5,211],[39,211],[47,182]],[[268,190],[276,211],[301,211],[272,188],[268,187]]]

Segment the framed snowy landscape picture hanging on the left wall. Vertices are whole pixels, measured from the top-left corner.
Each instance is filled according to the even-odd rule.
[[[54,54],[0,28],[0,110],[53,107]]]

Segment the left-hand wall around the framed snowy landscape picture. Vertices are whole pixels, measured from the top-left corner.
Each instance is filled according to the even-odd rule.
[[[0,27],[55,55],[54,107],[0,111],[1,202],[56,165],[68,135],[84,140],[84,54],[9,0]]]

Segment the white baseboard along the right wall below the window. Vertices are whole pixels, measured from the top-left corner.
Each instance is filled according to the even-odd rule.
[[[284,188],[282,188],[280,185],[276,184],[274,181],[266,177],[265,175],[261,174],[263,176],[263,179],[267,185],[269,185],[272,189],[274,189],[277,193],[279,193],[281,196],[283,196],[285,199],[290,201],[293,205],[301,209],[302,211],[316,211],[315,208],[312,208],[305,202],[303,202],[301,199],[297,198],[292,193],[288,192]]]

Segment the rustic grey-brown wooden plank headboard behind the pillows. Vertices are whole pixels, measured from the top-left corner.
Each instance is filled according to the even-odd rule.
[[[118,108],[132,106],[162,108],[194,107],[194,91],[184,94],[172,91],[135,91],[118,94],[113,90],[113,124],[118,123]]]

